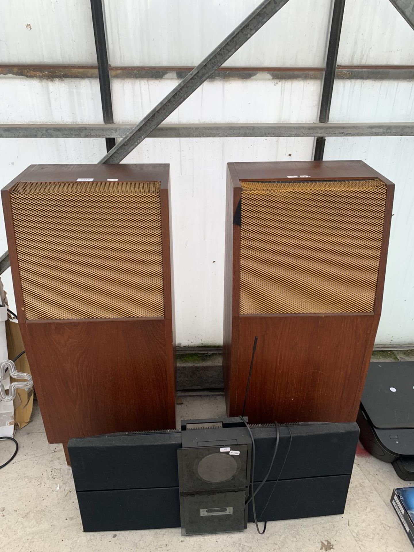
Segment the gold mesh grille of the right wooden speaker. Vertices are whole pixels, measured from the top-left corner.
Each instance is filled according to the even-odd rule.
[[[241,314],[373,311],[384,182],[241,187]]]

